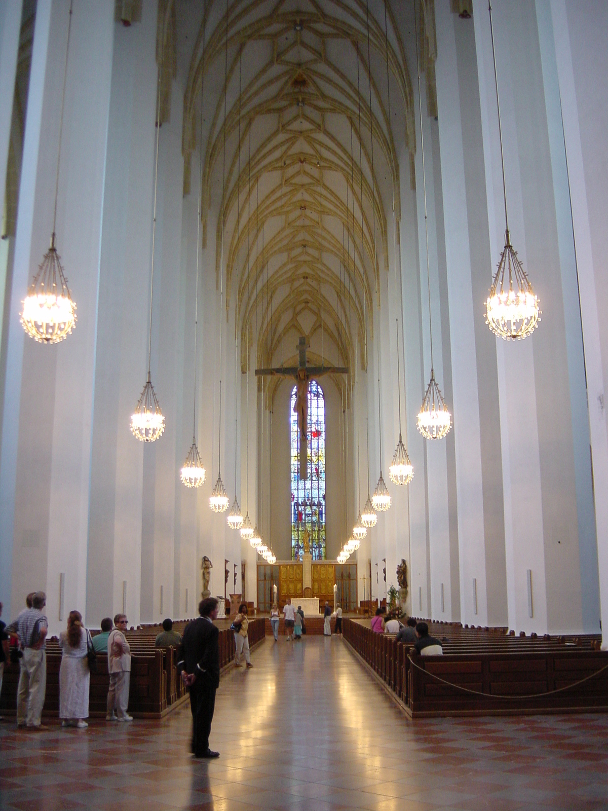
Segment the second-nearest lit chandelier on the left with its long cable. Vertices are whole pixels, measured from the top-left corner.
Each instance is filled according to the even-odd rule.
[[[158,137],[161,132],[161,74],[165,54],[165,28],[162,32],[161,65],[158,68],[156,83],[156,157],[154,161],[154,212],[152,215],[152,258],[150,280],[150,330],[148,333],[148,380],[143,392],[131,414],[131,433],[141,442],[156,442],[165,432],[165,417],[158,404],[156,392],[152,386],[150,370],[152,367],[152,296],[154,293],[154,248],[156,246],[156,191],[158,189]]]

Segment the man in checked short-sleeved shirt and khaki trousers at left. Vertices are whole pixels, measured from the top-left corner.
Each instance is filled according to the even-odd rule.
[[[44,591],[32,596],[32,607],[19,613],[17,633],[23,656],[19,659],[17,688],[17,726],[46,729],[41,724],[46,693],[45,638],[49,622],[42,613],[46,605]]]

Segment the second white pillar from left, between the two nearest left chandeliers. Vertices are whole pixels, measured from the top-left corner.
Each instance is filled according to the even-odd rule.
[[[92,434],[91,624],[122,611],[123,581],[130,624],[140,620],[143,443],[129,425],[148,363],[156,6],[149,0],[140,23],[115,26]]]

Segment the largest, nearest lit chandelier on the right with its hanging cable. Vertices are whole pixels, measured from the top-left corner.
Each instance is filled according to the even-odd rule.
[[[541,309],[538,298],[526,275],[524,266],[517,258],[517,252],[511,244],[509,221],[507,217],[507,183],[504,178],[503,130],[500,123],[499,79],[496,71],[496,54],[494,46],[494,26],[492,24],[492,4],[488,2],[490,12],[490,36],[492,38],[492,58],[494,59],[494,80],[496,87],[496,109],[499,118],[500,162],[503,168],[504,199],[504,248],[500,255],[490,294],[486,299],[486,324],[491,331],[505,341],[527,338],[537,328],[541,320]]]

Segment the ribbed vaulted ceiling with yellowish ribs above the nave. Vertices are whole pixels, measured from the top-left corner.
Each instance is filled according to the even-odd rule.
[[[316,336],[309,358],[320,360],[321,333],[325,358],[352,368],[366,313],[372,336],[393,201],[398,238],[400,182],[414,183],[416,130],[405,57],[413,0],[368,2],[369,58],[366,0],[208,0],[205,19],[202,0],[161,0],[165,96],[176,65],[187,75],[184,194],[197,193],[200,151],[203,247],[212,211],[219,285],[224,212],[225,303],[228,313],[238,294],[242,371],[248,327],[261,366],[294,360],[299,335]],[[416,2],[432,108],[433,0]],[[165,120],[165,97],[162,109]]]

